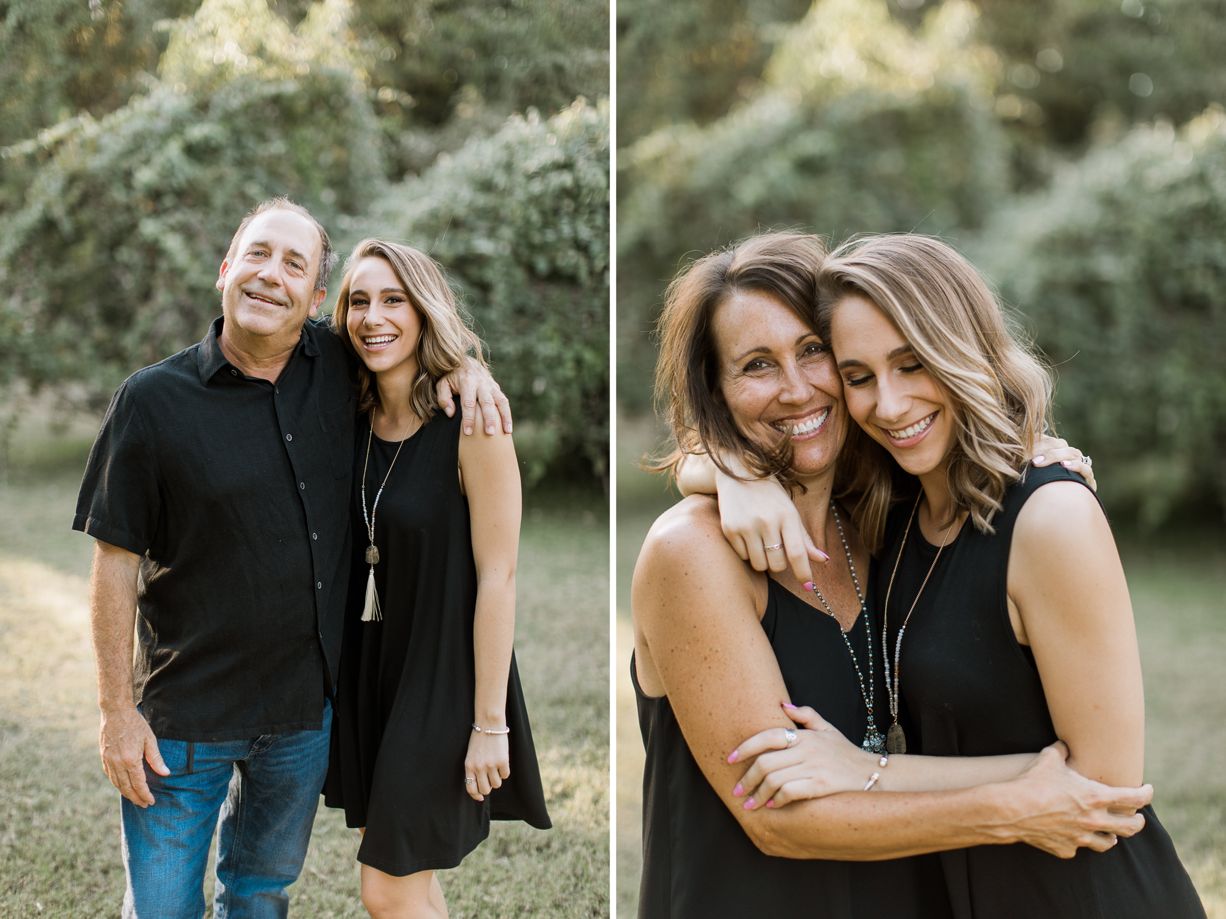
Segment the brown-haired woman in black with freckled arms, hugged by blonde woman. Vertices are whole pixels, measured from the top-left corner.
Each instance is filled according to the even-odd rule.
[[[760,235],[699,260],[668,292],[657,392],[679,448],[782,472],[831,560],[807,583],[763,576],[702,495],[647,535],[631,598],[647,749],[640,917],[945,917],[939,864],[923,853],[1020,841],[1068,855],[1143,825],[1107,809],[1139,807],[1150,789],[1085,779],[1056,746],[1037,757],[880,752],[869,554],[831,502],[850,419],[813,327],[823,259],[814,236]],[[837,730],[793,730],[781,703],[820,707],[829,724],[812,723]],[[745,799],[753,751],[737,743],[764,730],[787,749],[759,760],[820,758],[797,796],[825,796]]]

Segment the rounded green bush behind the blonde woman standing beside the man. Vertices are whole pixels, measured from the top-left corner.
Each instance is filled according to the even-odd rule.
[[[608,105],[512,116],[370,216],[462,288],[511,399],[528,484],[568,455],[607,477]],[[353,221],[348,222],[351,225]]]

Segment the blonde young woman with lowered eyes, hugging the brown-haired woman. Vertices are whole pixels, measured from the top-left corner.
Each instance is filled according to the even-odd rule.
[[[975,268],[939,240],[846,244],[824,262],[819,289],[818,327],[857,425],[845,490],[868,546],[884,546],[877,597],[890,749],[993,757],[1059,738],[1079,773],[1139,784],[1140,663],[1111,529],[1085,482],[1026,462],[1051,424],[1047,371]],[[761,483],[754,488],[760,509]],[[776,500],[774,522],[755,511],[755,522],[741,515],[725,528],[760,554],[764,533],[769,548],[781,528],[794,532],[787,504]],[[813,712],[798,720],[825,727]],[[814,793],[812,777],[829,768],[815,745],[781,747],[769,734],[743,745],[775,750],[743,788],[779,806]],[[1141,832],[1106,853],[943,853],[954,915],[1204,917],[1170,837],[1151,807],[1144,816]]]

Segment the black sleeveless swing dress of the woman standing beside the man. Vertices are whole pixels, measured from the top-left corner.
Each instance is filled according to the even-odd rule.
[[[468,500],[456,473],[460,414],[436,413],[405,441],[379,499],[375,586],[383,621],[363,622],[369,542],[359,506],[368,419],[358,420],[354,553],[324,803],[367,828],[358,861],[397,877],[455,868],[490,820],[549,828],[520,676],[506,686],[511,774],[484,801],[468,796],[477,570]],[[367,507],[398,444],[374,437]]]

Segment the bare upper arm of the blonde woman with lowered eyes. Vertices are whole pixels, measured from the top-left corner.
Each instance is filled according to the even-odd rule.
[[[1145,697],[1132,600],[1111,527],[1080,484],[1049,483],[1022,506],[1008,598],[1069,765],[1100,782],[1139,784]]]

